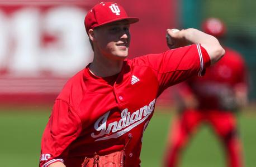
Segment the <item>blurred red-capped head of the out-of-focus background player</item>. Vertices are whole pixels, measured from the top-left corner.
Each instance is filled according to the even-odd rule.
[[[202,23],[202,31],[219,38],[226,34],[226,26],[219,18],[211,17]]]

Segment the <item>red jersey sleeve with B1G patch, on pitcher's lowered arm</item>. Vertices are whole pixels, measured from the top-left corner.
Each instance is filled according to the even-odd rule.
[[[63,100],[56,100],[41,141],[41,167],[57,161],[64,163],[68,145],[77,138],[82,129],[79,116]]]

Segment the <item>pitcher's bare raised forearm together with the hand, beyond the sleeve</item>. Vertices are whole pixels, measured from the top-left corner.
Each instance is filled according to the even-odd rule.
[[[220,58],[225,54],[225,50],[222,48],[217,38],[202,31],[196,30],[195,28],[188,28],[181,31],[168,29],[167,43],[171,49],[194,43],[200,43],[211,58],[211,65],[219,61]]]

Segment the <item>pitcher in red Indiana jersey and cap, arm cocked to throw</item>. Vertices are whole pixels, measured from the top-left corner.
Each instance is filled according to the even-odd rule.
[[[139,166],[141,138],[157,97],[189,76],[203,75],[225,53],[206,33],[168,29],[169,47],[180,48],[128,60],[129,27],[138,21],[113,2],[87,13],[94,58],[57,97],[42,136],[40,166]]]

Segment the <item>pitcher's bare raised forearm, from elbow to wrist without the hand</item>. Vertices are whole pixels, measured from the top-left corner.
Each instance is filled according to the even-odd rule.
[[[211,65],[219,61],[220,58],[224,56],[225,50],[214,36],[208,35],[194,28],[188,28],[187,30],[182,31],[183,37],[189,43],[200,43],[201,46],[205,48],[211,58]]]

